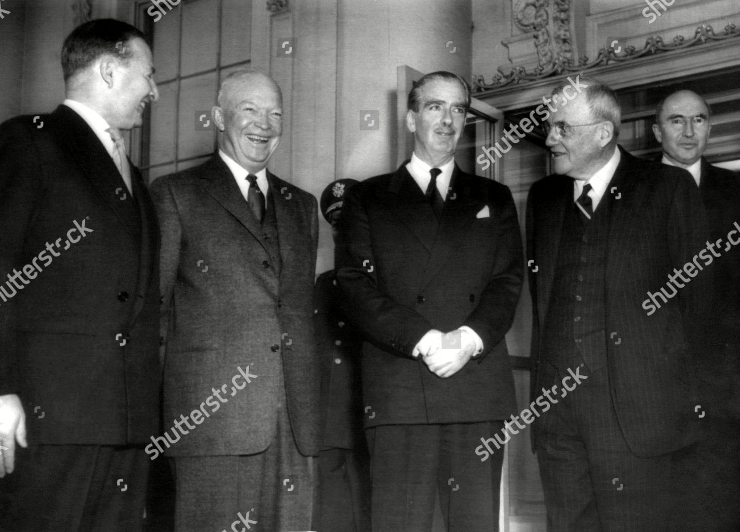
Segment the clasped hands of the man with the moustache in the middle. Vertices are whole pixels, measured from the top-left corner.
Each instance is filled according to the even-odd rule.
[[[457,343],[456,335],[460,338],[460,347],[443,347],[443,337],[450,343]],[[456,329],[445,335],[440,330],[429,330],[411,353],[414,358],[422,357],[431,372],[437,377],[447,378],[459,372],[473,356],[476,350],[473,335],[464,329]]]

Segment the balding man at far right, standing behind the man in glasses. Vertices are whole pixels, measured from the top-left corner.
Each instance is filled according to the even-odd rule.
[[[700,338],[699,442],[677,463],[681,504],[694,508],[674,530],[740,529],[740,250],[728,235],[740,222],[740,179],[703,157],[711,131],[710,107],[695,92],[674,92],[656,109],[653,132],[662,163],[690,172],[707,211],[709,236],[721,256],[713,279],[710,327]],[[727,249],[725,249],[727,248]]]

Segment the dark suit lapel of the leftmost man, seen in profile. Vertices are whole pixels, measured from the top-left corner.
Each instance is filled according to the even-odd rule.
[[[105,146],[87,122],[69,107],[58,106],[51,116],[58,121],[60,143],[67,146],[68,152],[75,158],[84,177],[118,217],[129,236],[136,241],[135,234],[138,233],[136,225],[139,222],[138,206],[135,205],[135,201],[131,201],[130,197],[121,199],[129,192],[121,177],[121,172],[113,163]],[[131,166],[133,168],[133,165]]]

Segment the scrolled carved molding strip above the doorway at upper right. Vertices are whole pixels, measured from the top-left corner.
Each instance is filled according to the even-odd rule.
[[[556,0],[558,1],[558,0]],[[633,59],[642,58],[645,55],[655,55],[665,52],[683,50],[684,48],[700,46],[708,42],[722,41],[728,38],[740,36],[740,31],[736,30],[735,24],[727,24],[724,32],[719,35],[714,33],[710,24],[702,24],[696,28],[693,38],[687,40],[683,35],[676,35],[672,43],[666,44],[660,35],[647,38],[645,47],[642,50],[636,50],[635,47],[625,47],[625,52],[617,55],[612,47],[602,48],[599,55],[594,61],[589,62],[588,57],[582,55],[577,64],[563,57],[556,57],[547,64],[539,64],[532,72],[527,72],[522,66],[511,69],[508,75],[494,74],[491,83],[485,83],[482,75],[473,75],[473,92],[482,92],[491,89],[500,89],[508,85],[519,83],[528,83],[530,81],[539,81],[551,76],[568,74],[570,72],[585,72],[596,66],[605,66],[610,63],[624,63]]]

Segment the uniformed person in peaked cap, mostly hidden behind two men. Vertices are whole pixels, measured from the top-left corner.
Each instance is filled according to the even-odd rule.
[[[320,208],[336,226],[345,194],[357,183],[337,180],[324,189]],[[335,270],[322,273],[314,290],[314,332],[321,364],[319,521],[322,532],[366,532],[370,527],[370,479],[363,433],[360,352],[362,337],[341,307]]]

